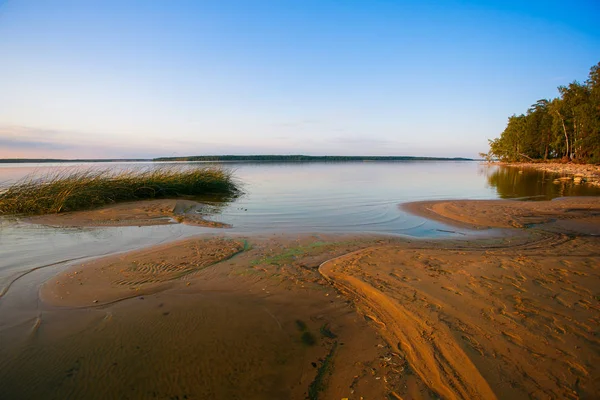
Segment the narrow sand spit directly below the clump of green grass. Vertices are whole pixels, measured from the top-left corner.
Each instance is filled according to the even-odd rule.
[[[101,207],[90,211],[47,214],[26,218],[25,221],[50,226],[148,226],[189,224],[227,228],[226,224],[205,217],[214,210],[208,204],[192,200],[165,199],[135,201]]]

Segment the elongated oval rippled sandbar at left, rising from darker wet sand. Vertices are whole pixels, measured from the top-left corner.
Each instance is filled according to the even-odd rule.
[[[243,240],[200,238],[100,258],[45,283],[42,299],[85,307],[154,293],[244,250]]]

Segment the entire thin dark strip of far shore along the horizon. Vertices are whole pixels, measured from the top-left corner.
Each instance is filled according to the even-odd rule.
[[[161,162],[161,161],[474,161],[462,157],[411,156],[305,156],[305,155],[246,155],[246,156],[188,156],[126,159],[57,159],[57,158],[0,158],[0,163],[73,163],[73,162]]]

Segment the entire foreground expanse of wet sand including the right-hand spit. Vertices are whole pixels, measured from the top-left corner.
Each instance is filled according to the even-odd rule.
[[[600,396],[599,198],[406,205],[502,235],[200,236],[73,265],[0,331],[10,398]]]

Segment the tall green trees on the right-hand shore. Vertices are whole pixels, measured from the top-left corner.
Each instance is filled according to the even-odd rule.
[[[525,114],[508,118],[490,151],[481,156],[508,162],[562,160],[600,164],[600,63],[584,83],[558,87],[559,97],[541,99]]]

